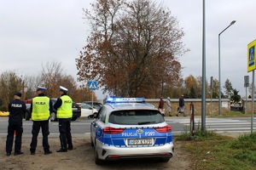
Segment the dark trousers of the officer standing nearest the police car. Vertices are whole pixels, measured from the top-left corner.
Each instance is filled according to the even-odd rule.
[[[70,124],[71,124],[70,118],[59,119],[59,132],[60,132],[60,141],[61,141],[62,150],[67,150],[67,145],[68,145],[68,148],[73,148]]]

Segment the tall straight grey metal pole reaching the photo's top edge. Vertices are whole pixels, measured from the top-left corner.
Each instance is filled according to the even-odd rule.
[[[206,130],[206,17],[203,0],[203,35],[202,35],[202,89],[201,89],[201,132]]]

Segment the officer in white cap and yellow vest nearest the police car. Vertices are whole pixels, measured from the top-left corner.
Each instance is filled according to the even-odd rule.
[[[61,97],[57,99],[54,108],[57,110],[57,118],[59,119],[59,132],[61,149],[57,152],[67,152],[73,150],[72,136],[71,136],[71,117],[73,115],[72,99],[67,95],[67,88],[60,86]]]

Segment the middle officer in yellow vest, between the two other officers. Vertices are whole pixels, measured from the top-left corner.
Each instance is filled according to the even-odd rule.
[[[31,155],[35,155],[38,144],[38,133],[40,127],[43,134],[44,155],[49,155],[52,152],[49,150],[48,135],[49,135],[49,116],[53,111],[53,105],[49,97],[45,96],[46,88],[39,87],[37,89],[38,96],[32,99],[30,111],[32,113],[32,141],[30,144]]]

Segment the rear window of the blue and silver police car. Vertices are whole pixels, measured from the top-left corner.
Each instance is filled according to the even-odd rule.
[[[120,125],[143,125],[165,122],[159,111],[113,111],[108,122]]]

